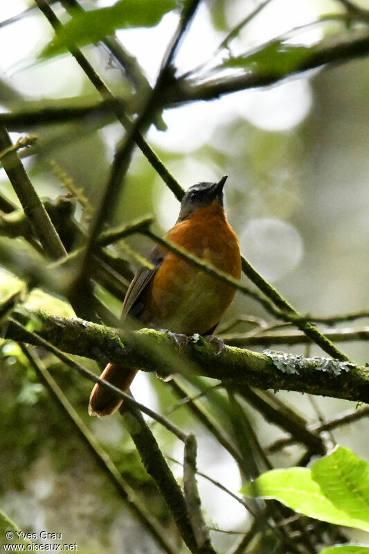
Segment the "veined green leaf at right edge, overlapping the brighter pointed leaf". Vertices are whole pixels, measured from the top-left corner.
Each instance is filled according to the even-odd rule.
[[[332,503],[369,528],[369,464],[351,450],[337,447],[312,465],[312,478]]]

